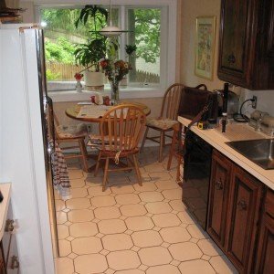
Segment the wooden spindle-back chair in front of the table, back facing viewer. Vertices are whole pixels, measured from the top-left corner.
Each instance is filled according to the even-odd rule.
[[[99,149],[98,161],[94,175],[98,174],[100,162],[105,161],[102,191],[106,190],[109,172],[135,170],[138,183],[142,185],[142,177],[136,154],[139,153],[138,144],[146,122],[146,116],[141,108],[131,104],[119,105],[107,111],[100,121],[100,140],[97,139]],[[94,137],[91,136],[94,143]],[[127,164],[120,164],[121,158]],[[110,160],[117,164],[110,168]]]

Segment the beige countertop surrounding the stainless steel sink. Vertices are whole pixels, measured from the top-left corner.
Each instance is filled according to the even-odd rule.
[[[190,122],[190,120],[185,119],[183,117],[179,117],[178,121],[180,121],[184,126],[187,126]],[[244,125],[243,125],[244,126]],[[251,129],[252,130],[252,129]],[[243,169],[248,171],[249,174],[252,174],[254,177],[258,178],[259,181],[266,184],[274,190],[274,170],[265,170],[258,166],[258,164],[251,162],[246,158],[245,156],[241,155],[240,153],[237,153],[233,148],[229,147],[226,142],[234,141],[229,139],[229,136],[227,137],[226,134],[213,129],[213,130],[199,130],[196,125],[192,126],[191,128],[192,132],[195,132],[198,136],[200,136],[202,139],[205,140],[205,142],[208,142],[211,144],[216,150],[218,150],[220,153],[223,153],[226,155],[229,159],[231,159],[233,162],[237,163],[239,166],[241,166]],[[244,131],[242,131],[244,132]],[[241,136],[237,136],[237,132],[235,131],[235,140],[239,140]],[[247,134],[250,134],[248,132],[247,128]],[[254,134],[255,138],[262,133],[256,132]],[[267,138],[266,135],[264,135],[265,138]],[[262,138],[262,136],[260,137]],[[252,138],[251,138],[252,139]],[[258,138],[257,138],[258,139]],[[244,140],[244,139],[242,139]]]

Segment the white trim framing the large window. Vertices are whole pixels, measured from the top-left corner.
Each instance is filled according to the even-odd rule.
[[[86,5],[85,1],[79,3],[76,1],[70,0],[57,0],[55,4],[52,4],[50,0],[36,0],[36,19],[40,21],[39,18],[39,9],[42,7],[54,7],[54,6],[63,6],[68,7],[71,5],[79,6]],[[108,0],[93,0],[93,5],[109,5]],[[162,97],[164,91],[168,86],[174,83],[175,81],[175,53],[176,53],[176,0],[150,0],[149,3],[147,0],[116,0],[114,5],[124,5],[125,8],[128,7],[162,7],[162,17],[161,22],[168,22],[167,24],[161,24],[161,64],[160,64],[160,75],[165,75],[166,79],[160,79],[160,85],[158,88],[145,87],[145,88],[134,88],[128,87],[126,89],[121,89],[120,97],[121,99],[126,98],[153,98],[153,97]],[[163,54],[165,53],[165,54]],[[105,89],[106,95],[110,93],[108,89]],[[91,91],[90,91],[91,92]],[[82,94],[75,91],[53,91],[49,92],[49,95],[55,101],[72,101],[72,100],[90,100],[90,92],[83,92]],[[80,99],[81,98],[81,99]]]

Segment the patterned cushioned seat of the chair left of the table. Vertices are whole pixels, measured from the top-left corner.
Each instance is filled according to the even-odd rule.
[[[59,139],[73,139],[86,137],[88,134],[88,128],[85,123],[79,123],[78,125],[58,125],[56,132]]]

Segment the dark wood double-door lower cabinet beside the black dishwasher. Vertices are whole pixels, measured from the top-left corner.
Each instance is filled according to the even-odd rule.
[[[239,273],[255,273],[263,190],[264,185],[255,177],[223,154],[213,152],[206,230]]]

